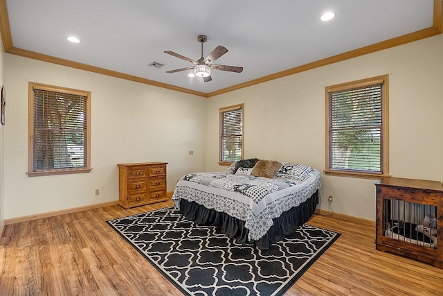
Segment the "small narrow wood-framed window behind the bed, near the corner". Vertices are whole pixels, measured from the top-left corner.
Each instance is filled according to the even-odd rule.
[[[220,108],[220,159],[228,165],[243,158],[244,105]]]

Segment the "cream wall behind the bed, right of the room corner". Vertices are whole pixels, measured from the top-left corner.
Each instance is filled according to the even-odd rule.
[[[390,173],[443,180],[443,35],[338,62],[208,101],[208,170],[218,166],[219,107],[244,103],[245,157],[325,169],[325,87],[389,74]],[[321,209],[375,219],[374,180],[322,175]]]

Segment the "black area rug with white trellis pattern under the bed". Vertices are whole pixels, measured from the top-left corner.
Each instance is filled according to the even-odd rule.
[[[340,234],[302,225],[260,250],[168,207],[107,221],[185,295],[283,295]]]

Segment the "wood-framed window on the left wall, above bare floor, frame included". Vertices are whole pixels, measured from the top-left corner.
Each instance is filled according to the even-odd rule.
[[[91,171],[90,110],[90,92],[29,82],[29,176]]]

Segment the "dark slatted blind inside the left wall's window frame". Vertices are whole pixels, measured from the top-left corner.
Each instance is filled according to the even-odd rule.
[[[87,96],[33,89],[33,171],[87,167]]]

